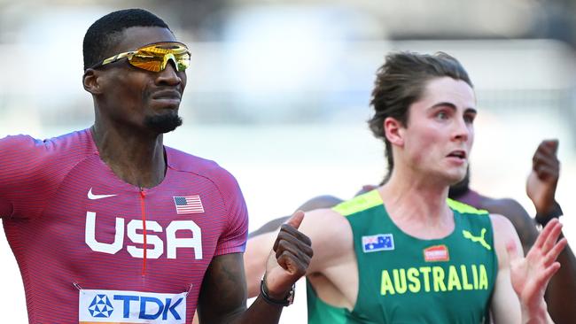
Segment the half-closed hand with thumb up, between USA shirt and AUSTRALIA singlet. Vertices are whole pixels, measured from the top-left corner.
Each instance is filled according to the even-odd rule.
[[[265,284],[270,297],[284,299],[292,284],[306,274],[312,258],[312,243],[298,228],[304,212],[292,214],[281,227],[273,251],[270,252],[265,274]]]

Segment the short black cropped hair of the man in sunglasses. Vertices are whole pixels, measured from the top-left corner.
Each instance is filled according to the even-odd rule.
[[[110,49],[120,41],[121,32],[128,27],[162,27],[170,30],[164,20],[144,9],[110,12],[97,19],[84,35],[84,70],[104,60]]]

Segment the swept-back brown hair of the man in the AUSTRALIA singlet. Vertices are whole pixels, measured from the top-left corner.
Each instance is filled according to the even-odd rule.
[[[378,69],[370,99],[374,116],[368,123],[372,134],[385,142],[388,174],[383,182],[387,181],[393,170],[392,145],[385,136],[384,120],[392,117],[407,127],[409,106],[424,95],[428,81],[445,76],[465,81],[473,88],[460,62],[443,52],[433,55],[394,52],[386,56],[384,65]]]

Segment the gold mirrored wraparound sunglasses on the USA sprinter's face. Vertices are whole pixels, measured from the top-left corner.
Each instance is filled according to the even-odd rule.
[[[96,69],[100,66],[114,63],[121,58],[128,58],[128,63],[131,66],[152,72],[163,71],[169,60],[174,62],[178,72],[182,72],[190,66],[190,51],[182,42],[154,42],[137,50],[106,58],[97,65],[90,66],[90,68]]]

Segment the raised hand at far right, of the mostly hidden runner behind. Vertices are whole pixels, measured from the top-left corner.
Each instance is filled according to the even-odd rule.
[[[554,208],[560,175],[557,150],[557,140],[545,140],[540,143],[532,158],[532,172],[526,181],[526,194],[539,215],[548,214]]]

